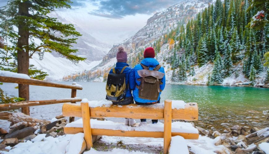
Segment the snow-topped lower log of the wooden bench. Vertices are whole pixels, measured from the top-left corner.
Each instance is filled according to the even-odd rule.
[[[147,124],[139,127],[126,126],[122,123],[115,123],[112,121],[101,121],[91,119],[92,135],[106,135],[114,136],[129,136],[129,137],[155,137],[163,138],[164,124],[158,122],[157,124]],[[76,120],[70,124],[66,124],[64,128],[66,134],[75,134],[83,132],[82,119]],[[145,136],[146,135],[146,136]],[[172,136],[182,136],[185,139],[198,139],[198,130],[190,123],[173,122]]]

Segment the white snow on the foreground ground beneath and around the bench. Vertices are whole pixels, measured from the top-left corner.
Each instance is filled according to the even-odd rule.
[[[175,136],[177,137],[177,136]],[[73,138],[73,141],[72,141]],[[180,138],[180,137],[179,137]],[[35,140],[38,139],[38,140]],[[2,152],[3,154],[18,154],[18,153],[23,153],[23,154],[41,154],[41,153],[48,153],[48,154],[65,154],[66,153],[74,153],[74,152],[79,152],[81,147],[81,144],[83,142],[83,133],[78,133],[75,135],[64,135],[64,136],[59,136],[59,137],[45,137],[43,134],[40,134],[36,136],[32,141],[27,141],[24,143],[19,143],[15,145],[14,148],[12,148],[9,152]],[[69,141],[72,141],[72,144],[69,144]],[[117,143],[119,138],[115,136],[102,136],[101,140],[105,143],[111,144],[111,143]],[[163,146],[163,138],[143,138],[143,137],[121,137],[120,140],[124,144],[135,144],[135,145],[140,145],[140,144],[146,144],[148,146]],[[219,145],[215,146],[214,144],[216,143],[216,139],[210,139],[206,136],[199,136],[198,140],[185,140],[185,139],[180,139],[180,141],[186,142],[186,144],[191,147],[190,151],[194,152],[195,154],[210,154],[214,153],[214,151],[222,151],[224,146]],[[171,154],[177,154],[178,151],[181,151],[182,143],[178,142],[178,140],[174,137],[172,139],[172,144],[171,144]],[[70,147],[71,146],[71,147]],[[73,148],[73,149],[72,149]],[[184,147],[186,148],[186,147]],[[174,151],[177,149],[177,151]],[[186,151],[186,149],[184,149]],[[126,149],[117,149],[114,148],[110,152],[98,152],[95,149],[91,149],[88,152],[84,152],[86,154],[115,154],[115,153],[124,153],[124,154],[134,154],[134,153],[143,153],[143,152],[134,152],[131,151],[129,152]]]

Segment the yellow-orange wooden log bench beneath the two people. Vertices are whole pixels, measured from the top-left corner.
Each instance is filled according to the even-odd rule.
[[[89,103],[71,104],[64,103],[62,107],[63,116],[82,117],[83,127],[65,127],[66,134],[76,134],[84,132],[84,139],[86,141],[87,150],[92,147],[93,136],[124,136],[124,137],[153,137],[164,138],[164,153],[168,153],[169,145],[172,136],[182,136],[185,139],[198,139],[197,131],[183,131],[172,132],[172,120],[198,120],[198,106],[197,103],[186,103],[184,108],[172,109],[172,101],[165,100],[163,104],[152,105],[103,105],[102,107],[89,107]],[[133,119],[158,119],[164,120],[163,131],[136,131],[133,130],[112,130],[109,128],[91,128],[90,118],[133,118]],[[189,123],[187,123],[189,124]],[[194,128],[196,130],[196,128]]]

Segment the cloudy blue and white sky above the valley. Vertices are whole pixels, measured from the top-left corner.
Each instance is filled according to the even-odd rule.
[[[4,6],[8,0],[0,0]],[[71,0],[71,10],[57,11],[62,18],[96,39],[116,44],[146,25],[147,19],[182,0]]]

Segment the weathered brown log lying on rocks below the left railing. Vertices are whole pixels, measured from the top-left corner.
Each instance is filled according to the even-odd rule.
[[[11,125],[17,124],[21,121],[25,121],[29,123],[43,123],[43,124],[50,123],[50,121],[32,118],[31,116],[26,115],[24,113],[20,113],[20,112],[13,113],[13,112],[8,112],[8,111],[0,112],[0,119],[11,122]]]

